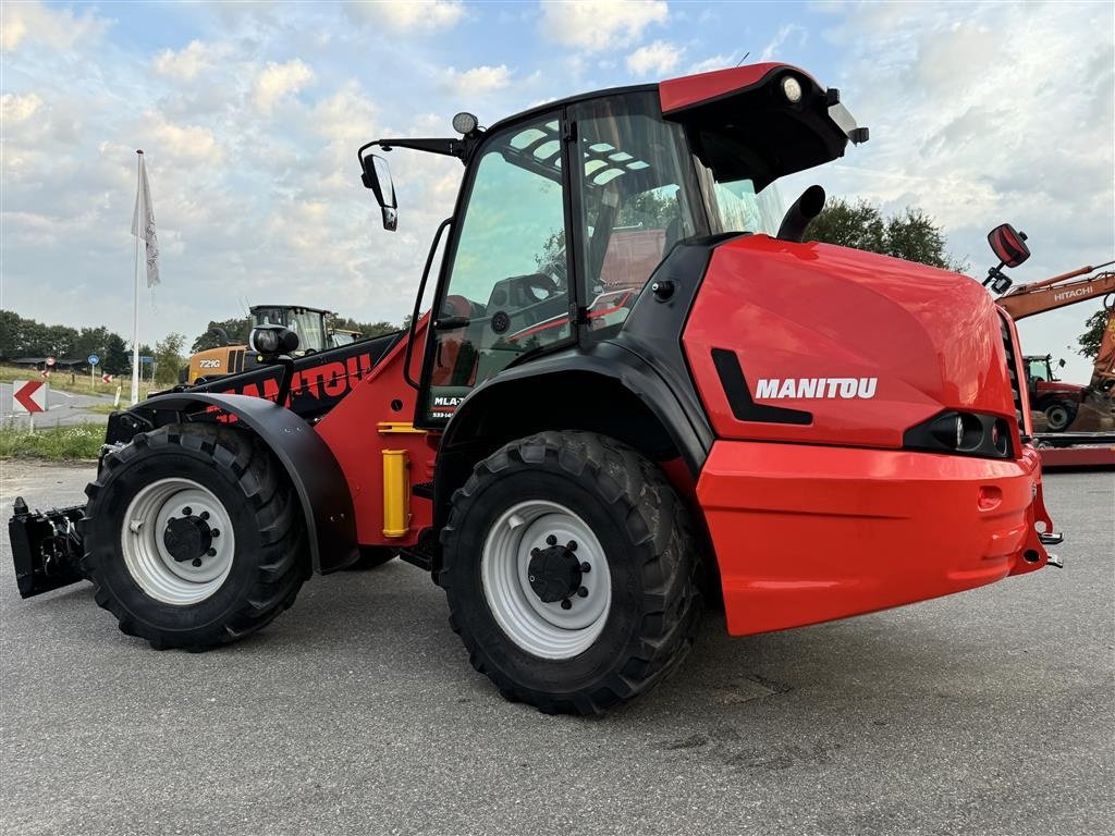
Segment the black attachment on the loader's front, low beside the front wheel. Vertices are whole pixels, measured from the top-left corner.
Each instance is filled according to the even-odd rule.
[[[16,497],[14,514],[8,521],[19,594],[31,597],[81,580],[81,535],[77,523],[84,505],[31,512],[23,497]]]

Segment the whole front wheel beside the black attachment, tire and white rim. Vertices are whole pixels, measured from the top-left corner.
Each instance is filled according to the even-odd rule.
[[[248,432],[175,425],[106,456],[83,570],[120,630],[155,648],[204,650],[259,630],[306,580],[301,511]]]

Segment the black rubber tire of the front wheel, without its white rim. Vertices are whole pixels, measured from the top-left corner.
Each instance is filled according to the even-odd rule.
[[[212,492],[232,521],[235,550],[227,576],[196,603],[164,603],[144,592],[120,545],[133,498],[169,477]],[[249,432],[192,424],[139,434],[105,457],[86,494],[81,565],[96,601],[123,632],[157,650],[201,651],[241,639],[289,607],[308,575],[304,523],[293,488],[271,451]]]

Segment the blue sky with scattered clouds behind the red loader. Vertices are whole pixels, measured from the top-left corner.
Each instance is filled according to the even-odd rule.
[[[397,153],[399,232],[356,148],[549,98],[776,59],[840,87],[866,146],[807,173],[920,206],[982,274],[1010,221],[1034,281],[1115,257],[1113,3],[38,3],[2,6],[2,304],[130,332],[136,148],[164,283],[144,341],[243,301],[401,320],[460,165]],[[795,195],[788,195],[792,200]],[[787,201],[788,202],[788,201]],[[1086,305],[1024,323],[1069,361]]]

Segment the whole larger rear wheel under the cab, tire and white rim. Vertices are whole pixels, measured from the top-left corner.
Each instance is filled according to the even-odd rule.
[[[652,688],[692,644],[688,508],[619,441],[543,432],[506,445],[455,495],[442,543],[450,623],[510,699],[600,713]]]

